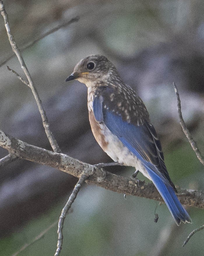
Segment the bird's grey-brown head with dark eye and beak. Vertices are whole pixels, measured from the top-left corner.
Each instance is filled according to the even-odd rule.
[[[118,77],[115,66],[103,55],[91,55],[76,64],[73,73],[65,81],[78,80],[87,87],[94,87]]]

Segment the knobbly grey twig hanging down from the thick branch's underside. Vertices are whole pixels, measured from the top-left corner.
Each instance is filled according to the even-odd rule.
[[[56,250],[56,253],[54,256],[58,256],[61,252],[62,241],[63,241],[62,229],[63,229],[63,224],[64,224],[64,219],[66,217],[66,213],[71,208],[71,205],[73,204],[75,198],[77,197],[77,194],[78,194],[81,186],[84,184],[85,180],[87,180],[87,179],[88,179],[88,176],[86,176],[84,174],[80,177],[80,179],[77,182],[77,184],[75,185],[65,207],[62,209],[61,216],[59,217],[58,231],[57,231],[57,233],[58,233],[57,250]]]

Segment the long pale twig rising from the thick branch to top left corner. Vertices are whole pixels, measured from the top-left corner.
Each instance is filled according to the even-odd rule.
[[[38,105],[38,109],[40,111],[40,114],[41,114],[41,117],[42,117],[42,120],[43,120],[43,126],[45,128],[45,133],[48,137],[48,140],[50,142],[50,145],[52,146],[52,149],[54,150],[54,152],[58,152],[60,153],[61,150],[59,148],[59,146],[57,145],[57,141],[55,140],[51,130],[50,130],[50,124],[48,123],[48,118],[46,116],[46,113],[45,113],[45,110],[43,109],[43,104],[39,98],[39,95],[38,95],[38,92],[34,86],[34,83],[32,81],[32,78],[31,78],[31,75],[27,69],[27,66],[22,58],[22,55],[21,55],[21,52],[20,50],[18,49],[17,47],[17,44],[13,38],[13,35],[11,34],[11,31],[10,31],[10,26],[9,26],[9,23],[8,23],[8,15],[5,11],[5,8],[4,8],[4,5],[3,5],[3,2],[0,1],[0,11],[1,11],[1,15],[3,16],[3,19],[4,19],[4,23],[5,23],[5,27],[6,27],[6,31],[7,31],[7,35],[8,35],[8,39],[9,39],[9,42],[10,42],[10,45],[12,47],[12,50],[13,52],[16,54],[19,62],[20,62],[20,65],[21,65],[21,68],[23,69],[27,79],[28,79],[28,82],[29,82],[29,85],[30,85],[30,88],[31,88],[31,91],[34,95],[34,98],[36,100],[36,103]]]

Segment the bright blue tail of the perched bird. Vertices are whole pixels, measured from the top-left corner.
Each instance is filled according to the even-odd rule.
[[[170,213],[176,221],[176,224],[179,226],[181,221],[183,223],[192,223],[191,217],[179,202],[173,188],[170,185],[165,184],[162,181],[162,178],[154,173],[151,169],[148,170],[148,174],[150,175],[152,182],[166,203]]]

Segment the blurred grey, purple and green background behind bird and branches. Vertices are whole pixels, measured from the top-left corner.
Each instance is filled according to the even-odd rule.
[[[145,102],[175,185],[203,189],[204,168],[178,122],[173,81],[184,120],[204,152],[204,2],[179,1],[4,1],[20,49],[72,18],[79,20],[22,51],[24,61],[63,153],[90,164],[111,161],[90,130],[87,88],[65,83],[80,59],[103,54]],[[12,55],[0,18],[0,65]],[[31,90],[6,68],[24,74],[11,58],[0,67],[0,128],[51,150]],[[8,152],[0,148],[0,158]],[[134,169],[109,167],[130,176]],[[139,179],[144,179],[142,174]],[[12,255],[58,220],[77,179],[18,160],[0,170],[0,255]],[[156,208],[157,206],[157,208]],[[154,223],[154,213],[159,220]],[[203,211],[187,209],[193,224],[177,227],[166,205],[85,185],[64,223],[60,255],[203,255]],[[57,224],[19,255],[54,255]]]

